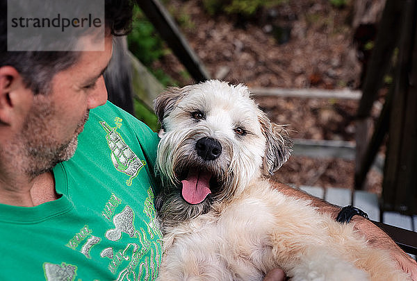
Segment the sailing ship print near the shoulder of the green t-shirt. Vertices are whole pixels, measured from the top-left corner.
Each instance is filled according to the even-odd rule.
[[[131,148],[124,142],[124,139],[116,130],[122,126],[122,119],[115,118],[115,127],[108,126],[106,121],[99,121],[106,131],[106,140],[111,151],[111,161],[113,165],[122,173],[126,173],[129,179],[126,185],[132,185],[133,178],[138,176],[138,172],[145,166],[145,161],[141,161],[139,157],[133,153]]]

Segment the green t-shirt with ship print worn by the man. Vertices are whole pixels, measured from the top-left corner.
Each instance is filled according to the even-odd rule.
[[[36,207],[0,204],[0,280],[156,278],[158,140],[109,102],[91,110],[74,157],[54,169],[62,196]]]

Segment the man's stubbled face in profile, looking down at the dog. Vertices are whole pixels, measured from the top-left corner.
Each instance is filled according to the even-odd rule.
[[[72,67],[54,76],[49,93],[34,96],[20,136],[28,160],[26,173],[38,176],[74,155],[89,110],[106,103],[102,74],[111,58],[111,44],[111,37],[106,37],[105,51],[81,52]]]

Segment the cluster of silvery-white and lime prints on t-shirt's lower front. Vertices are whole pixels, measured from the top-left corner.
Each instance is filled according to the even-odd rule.
[[[161,264],[162,233],[153,202],[154,193],[149,186],[142,210],[145,216],[136,219],[135,210],[112,193],[101,213],[103,219],[112,222],[112,227],[98,232],[85,224],[65,246],[91,259],[90,250],[100,247],[102,241],[124,241],[122,245],[99,251],[99,257],[108,261],[107,270],[115,276],[114,280],[154,280]],[[143,228],[139,227],[140,221],[144,223]],[[97,255],[97,251],[95,253]],[[77,276],[77,266],[70,263],[44,262],[43,267],[46,280],[81,280],[76,279],[81,278]]]

